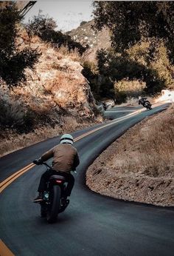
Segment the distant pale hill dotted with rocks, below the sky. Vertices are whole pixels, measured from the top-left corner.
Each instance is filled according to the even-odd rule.
[[[88,44],[88,50],[86,56],[90,61],[95,60],[95,53],[98,49],[108,48],[111,46],[110,36],[108,29],[104,28],[102,31],[95,32],[91,25],[94,21],[84,22],[77,29],[69,31],[67,34],[72,37],[74,41],[80,42],[82,45]]]

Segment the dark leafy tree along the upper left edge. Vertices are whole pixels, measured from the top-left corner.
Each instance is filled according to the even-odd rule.
[[[25,81],[24,70],[33,68],[40,53],[29,47],[18,50],[15,39],[18,36],[17,24],[21,16],[15,4],[0,9],[0,76],[9,87]]]

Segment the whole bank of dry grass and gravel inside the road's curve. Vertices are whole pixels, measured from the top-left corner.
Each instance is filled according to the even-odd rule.
[[[174,206],[174,107],[108,146],[88,168],[86,184],[112,198]]]

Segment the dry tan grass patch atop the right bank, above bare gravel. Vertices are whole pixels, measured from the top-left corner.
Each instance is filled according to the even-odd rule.
[[[145,175],[174,178],[174,115],[173,107],[148,121],[142,121],[130,135],[122,136],[118,155],[125,152],[128,159],[123,169],[138,170]],[[136,131],[136,132],[135,132]],[[127,153],[128,151],[128,153]],[[114,161],[114,160],[113,160]]]

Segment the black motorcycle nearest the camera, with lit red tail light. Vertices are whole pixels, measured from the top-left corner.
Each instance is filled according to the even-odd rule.
[[[35,161],[33,161],[35,164]],[[46,163],[46,170],[52,167]],[[63,175],[52,175],[46,183],[46,191],[44,191],[43,201],[41,204],[41,217],[46,218],[48,223],[54,223],[60,212],[63,212],[69,205],[69,199],[66,199],[66,185],[67,181]]]

